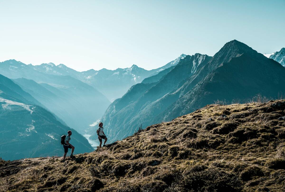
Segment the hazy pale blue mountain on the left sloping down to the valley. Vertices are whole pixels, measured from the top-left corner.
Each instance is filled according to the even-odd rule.
[[[75,74],[66,75],[70,72],[53,63],[33,66],[14,59],[0,62],[0,74],[14,79],[69,127],[84,133],[94,119],[103,115],[110,101],[94,87],[78,80]]]

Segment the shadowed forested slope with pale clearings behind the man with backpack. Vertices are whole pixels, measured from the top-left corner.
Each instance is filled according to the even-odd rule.
[[[8,81],[6,77],[0,79]],[[6,88],[10,91],[5,91],[1,86],[3,84],[0,83],[0,157],[5,160],[14,160],[62,155],[63,147],[60,145],[60,137],[70,128],[60,123],[52,113],[44,108],[21,101],[23,98],[24,101],[27,100],[25,97],[29,94],[21,90],[13,81],[8,82]],[[23,96],[19,97],[19,94],[12,89]],[[74,137],[72,142],[78,147],[76,153],[93,150],[87,139],[74,129],[71,130]]]

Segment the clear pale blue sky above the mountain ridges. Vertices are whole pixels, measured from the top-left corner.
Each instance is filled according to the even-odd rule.
[[[284,10],[285,0],[0,0],[0,61],[150,70],[234,39],[272,53],[285,47]]]

